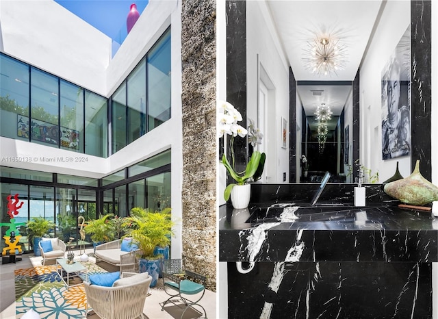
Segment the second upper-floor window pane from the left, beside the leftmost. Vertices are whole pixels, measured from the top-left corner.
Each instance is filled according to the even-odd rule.
[[[59,145],[58,78],[31,68],[31,141],[46,146]]]

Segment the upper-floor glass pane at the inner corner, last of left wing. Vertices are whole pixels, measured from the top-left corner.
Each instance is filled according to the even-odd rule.
[[[100,157],[108,155],[107,99],[85,92],[85,153]]]

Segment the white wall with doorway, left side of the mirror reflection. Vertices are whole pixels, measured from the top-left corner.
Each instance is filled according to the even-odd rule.
[[[259,65],[257,65],[257,56]],[[266,174],[268,183],[282,183],[289,175],[289,140],[281,148],[281,118],[289,122],[289,64],[264,1],[246,2],[246,105],[247,117],[257,119],[257,82],[263,66],[272,85],[274,97],[268,105],[268,130],[265,134]],[[289,123],[288,123],[289,125]]]

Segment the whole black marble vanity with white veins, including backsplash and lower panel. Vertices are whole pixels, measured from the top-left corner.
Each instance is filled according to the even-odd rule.
[[[298,199],[296,186],[266,185],[248,209],[220,207],[229,318],[432,319],[438,218],[398,207],[381,186],[365,186],[366,207],[348,202],[350,186],[329,186],[341,207],[309,207],[315,186]]]

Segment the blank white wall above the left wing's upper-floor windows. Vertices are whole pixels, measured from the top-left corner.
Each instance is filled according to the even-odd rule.
[[[0,23],[4,53],[106,94],[111,39],[101,31],[52,0],[1,1]]]

